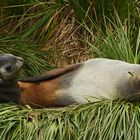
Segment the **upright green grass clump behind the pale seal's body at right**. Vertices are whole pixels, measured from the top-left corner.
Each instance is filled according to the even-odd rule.
[[[140,12],[138,14],[140,15]],[[88,32],[87,43],[92,54],[96,57],[140,63],[140,26],[134,24],[130,17],[126,23],[122,23],[117,13],[114,15],[114,20],[115,22],[104,16],[105,30],[101,30],[92,22],[96,32],[83,24]],[[130,22],[132,23],[128,24]]]

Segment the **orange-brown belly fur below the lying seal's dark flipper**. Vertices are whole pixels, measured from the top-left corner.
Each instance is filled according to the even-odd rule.
[[[50,107],[57,105],[56,94],[59,80],[44,81],[40,84],[18,82],[22,89],[20,93],[21,104],[28,104],[32,107]]]

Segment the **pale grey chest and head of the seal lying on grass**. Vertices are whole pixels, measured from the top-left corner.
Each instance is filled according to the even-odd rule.
[[[63,76],[57,91],[62,105],[103,99],[140,100],[140,65],[105,58],[82,64],[76,72]]]

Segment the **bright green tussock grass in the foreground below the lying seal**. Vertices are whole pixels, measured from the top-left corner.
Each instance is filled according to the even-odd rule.
[[[100,101],[64,108],[0,105],[0,139],[140,139],[140,104]]]

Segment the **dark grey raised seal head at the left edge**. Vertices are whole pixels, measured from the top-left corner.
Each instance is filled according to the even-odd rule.
[[[23,61],[23,58],[12,54],[0,54],[0,84],[17,79]]]

